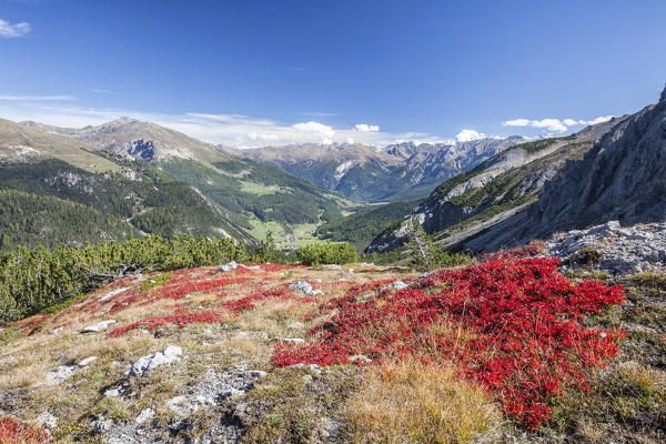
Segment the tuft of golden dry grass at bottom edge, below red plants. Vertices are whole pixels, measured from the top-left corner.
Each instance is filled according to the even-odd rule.
[[[415,361],[369,371],[345,406],[356,443],[466,443],[490,440],[498,407],[450,366]]]

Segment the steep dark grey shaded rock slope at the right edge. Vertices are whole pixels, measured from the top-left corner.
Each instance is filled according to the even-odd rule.
[[[658,103],[618,122],[583,159],[568,162],[533,205],[465,245],[497,249],[609,220],[666,220],[666,89]]]

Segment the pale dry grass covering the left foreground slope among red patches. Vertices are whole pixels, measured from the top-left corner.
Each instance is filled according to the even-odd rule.
[[[143,301],[140,301],[110,313],[109,309],[114,304],[114,299],[111,299],[93,312],[81,310],[87,303],[109,291],[99,290],[82,297],[72,307],[64,307],[50,315],[39,329],[30,330],[19,325],[3,332],[0,337],[0,392],[16,393],[18,389],[27,389],[28,392],[20,398],[14,397],[11,405],[0,408],[6,407],[17,417],[36,425],[41,413],[56,414],[58,431],[54,432],[54,437],[58,442],[69,442],[70,438],[97,442],[99,436],[90,435],[91,415],[112,417],[117,421],[131,420],[141,410],[152,406],[159,421],[168,424],[173,412],[165,407],[165,400],[178,395],[183,386],[195,382],[208,369],[223,372],[236,365],[244,365],[271,370],[271,355],[276,340],[307,337],[310,327],[316,321],[306,322],[303,321],[303,316],[316,309],[319,299],[323,302],[341,296],[354,283],[395,276],[389,271],[359,271],[353,278],[346,272],[343,274],[332,270],[275,272],[271,273],[270,279],[259,275],[249,282],[231,283],[218,292],[193,292],[186,300],[155,300],[149,304],[142,304]],[[353,281],[344,284],[339,282],[343,276]],[[167,278],[168,275],[153,278],[154,287],[163,284]],[[243,297],[256,292],[258,286],[270,289],[299,280],[321,280],[322,282],[314,286],[323,290],[324,294],[317,296],[317,302],[314,303],[304,303],[297,297],[258,301],[253,309],[243,311],[238,316],[230,312],[229,319],[221,319],[216,324],[194,323],[184,329],[167,324],[149,333],[133,330],[120,337],[107,337],[113,327],[149,316],[171,314],[175,304],[195,309],[206,303],[215,304],[220,300]],[[138,281],[133,285],[141,285],[143,282],[145,281]],[[153,286],[152,284],[150,286]],[[39,315],[28,319],[26,323],[38,317]],[[110,319],[118,322],[109,330],[80,334],[84,326]],[[57,333],[49,334],[62,325]],[[149,382],[132,380],[130,391],[137,395],[131,403],[125,404],[121,400],[103,396],[105,390],[125,379],[124,372],[138,357],[154,353],[168,344],[181,346],[186,357],[178,364],[152,371]],[[75,364],[89,356],[97,356],[98,361],[80,370],[62,384],[43,385],[47,372],[62,364]]]

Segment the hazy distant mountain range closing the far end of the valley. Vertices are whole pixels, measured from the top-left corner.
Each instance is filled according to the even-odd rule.
[[[353,200],[397,201],[425,195],[443,180],[522,141],[511,137],[455,144],[403,142],[384,148],[309,143],[240,150],[239,154],[280,167]]]

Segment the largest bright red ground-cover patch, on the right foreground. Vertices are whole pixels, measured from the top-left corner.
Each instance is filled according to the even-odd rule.
[[[279,366],[416,356],[450,361],[491,390],[528,428],[548,418],[547,401],[569,387],[588,390],[586,369],[616,355],[622,331],[594,331],[584,315],[624,301],[620,286],[578,285],[557,273],[557,259],[482,261],[440,271],[393,292],[354,286],[322,306],[335,314],[304,346],[281,344]],[[367,294],[367,290],[374,293]],[[323,313],[320,313],[323,314]]]

